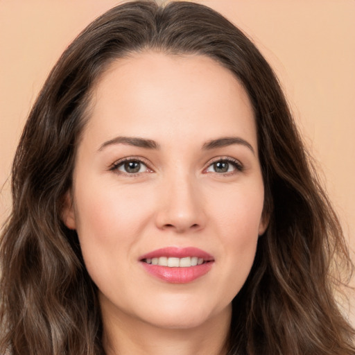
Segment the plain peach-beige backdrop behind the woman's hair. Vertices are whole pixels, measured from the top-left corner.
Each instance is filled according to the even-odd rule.
[[[355,249],[355,1],[205,0],[275,68]],[[60,53],[119,1],[0,0],[0,223],[26,115]],[[355,320],[354,320],[355,324]]]

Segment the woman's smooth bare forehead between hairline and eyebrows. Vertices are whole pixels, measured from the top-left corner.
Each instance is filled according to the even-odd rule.
[[[204,55],[134,53],[96,83],[87,130],[151,139],[211,139],[231,130],[256,141],[252,105],[234,74]]]

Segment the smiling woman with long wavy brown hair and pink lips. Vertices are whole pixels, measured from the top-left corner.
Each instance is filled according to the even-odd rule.
[[[207,7],[90,24],[33,106],[12,194],[2,353],[354,354],[336,215],[269,65]]]

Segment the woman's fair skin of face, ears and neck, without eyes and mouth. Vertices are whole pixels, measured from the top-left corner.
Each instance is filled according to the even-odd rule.
[[[225,137],[239,141],[206,148]],[[231,302],[267,226],[257,152],[248,96],[214,60],[135,53],[105,71],[63,216],[98,286],[107,354],[225,354]],[[130,173],[127,157],[145,165]],[[242,168],[220,171],[220,159]],[[214,264],[193,282],[164,282],[139,257],[168,246],[200,248]]]

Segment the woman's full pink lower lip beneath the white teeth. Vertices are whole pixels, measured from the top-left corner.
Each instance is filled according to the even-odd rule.
[[[187,284],[193,282],[199,277],[206,275],[207,272],[211,270],[213,263],[214,261],[209,261],[201,265],[190,266],[189,268],[169,268],[168,266],[153,265],[142,261],[144,268],[150,275],[171,284]]]

